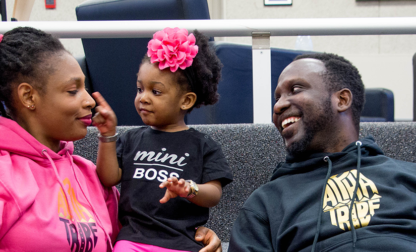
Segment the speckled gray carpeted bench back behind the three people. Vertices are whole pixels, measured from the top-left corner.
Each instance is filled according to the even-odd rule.
[[[193,125],[217,141],[227,157],[234,181],[223,190],[220,203],[211,209],[207,227],[212,228],[228,247],[232,223],[250,194],[266,183],[276,164],[284,161],[283,140],[273,124]],[[120,134],[133,127],[117,127]],[[362,122],[360,137],[372,135],[387,156],[416,162],[416,122]],[[75,142],[75,154],[95,163],[97,130]]]

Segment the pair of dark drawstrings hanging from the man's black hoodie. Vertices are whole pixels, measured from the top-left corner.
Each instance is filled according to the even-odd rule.
[[[360,141],[356,141],[355,145],[357,146],[357,175],[355,178],[355,187],[354,187],[354,193],[352,194],[352,199],[351,199],[351,204],[349,205],[349,210],[348,210],[348,215],[349,215],[349,226],[351,227],[351,232],[352,232],[352,247],[355,248],[355,242],[357,241],[357,234],[356,234],[356,230],[354,227],[354,224],[352,223],[352,207],[354,205],[355,202],[355,198],[357,196],[357,191],[358,191],[358,185],[360,183],[360,167],[361,167],[361,145],[362,143]],[[317,225],[316,225],[316,232],[315,232],[315,238],[314,238],[314,242],[312,244],[312,252],[315,252],[315,247],[316,247],[316,243],[318,242],[318,238],[319,238],[319,232],[321,231],[321,218],[322,218],[322,210],[323,210],[323,205],[324,205],[324,197],[325,197],[325,189],[326,189],[326,185],[328,183],[328,179],[329,176],[331,174],[331,169],[332,169],[332,162],[329,159],[328,156],[324,157],[324,161],[328,162],[328,172],[326,174],[326,178],[325,178],[325,183],[324,183],[324,187],[322,189],[322,196],[321,196],[321,207],[319,208],[319,215],[318,215],[318,221],[317,221]]]

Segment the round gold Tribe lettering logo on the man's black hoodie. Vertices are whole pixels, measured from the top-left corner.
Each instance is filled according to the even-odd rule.
[[[328,179],[325,189],[323,211],[330,213],[331,223],[343,230],[351,230],[349,207],[356,184],[357,170],[334,175]],[[360,173],[359,186],[352,206],[352,224],[355,229],[370,223],[371,216],[380,208],[380,198],[376,185]]]

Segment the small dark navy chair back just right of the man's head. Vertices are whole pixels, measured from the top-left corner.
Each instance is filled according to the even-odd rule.
[[[394,121],[394,95],[385,88],[366,88],[361,121]]]

